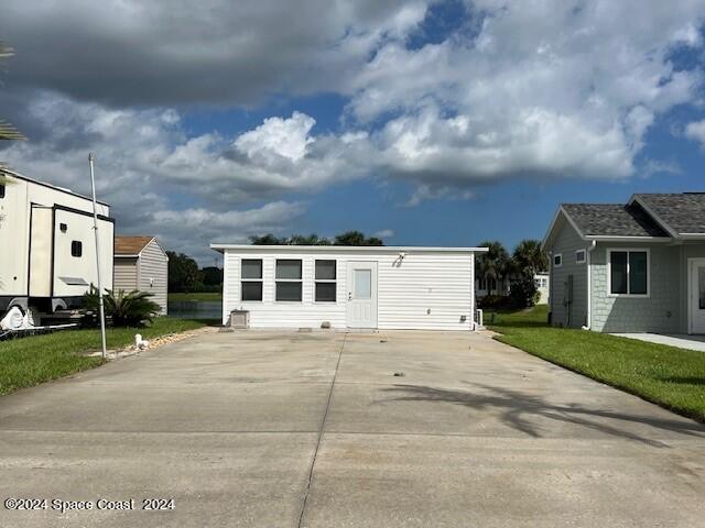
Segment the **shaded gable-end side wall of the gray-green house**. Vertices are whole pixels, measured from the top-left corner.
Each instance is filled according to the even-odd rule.
[[[585,242],[575,229],[561,220],[560,231],[551,248],[551,276],[549,278],[549,304],[551,321],[555,326],[581,328],[587,324],[587,264],[578,264],[577,250],[587,250]],[[563,255],[563,265],[555,267],[553,256]],[[573,275],[573,301],[566,300],[568,276]]]

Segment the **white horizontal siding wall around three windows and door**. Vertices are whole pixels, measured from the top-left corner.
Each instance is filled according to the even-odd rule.
[[[262,301],[240,300],[241,258],[262,258]],[[274,300],[276,258],[303,262],[303,300]],[[314,301],[316,260],[337,261],[336,302]],[[474,305],[471,253],[408,252],[399,263],[397,252],[372,251],[225,251],[224,323],[235,309],[250,311],[252,328],[347,327],[347,267],[349,262],[378,263],[378,328],[470,330]],[[464,316],[465,320],[462,320]]]

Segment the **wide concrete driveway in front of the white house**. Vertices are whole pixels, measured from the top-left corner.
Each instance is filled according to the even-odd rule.
[[[469,333],[182,341],[0,398],[0,475],[3,527],[705,525],[705,428]]]

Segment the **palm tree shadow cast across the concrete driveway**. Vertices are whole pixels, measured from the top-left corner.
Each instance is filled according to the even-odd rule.
[[[643,424],[654,429],[705,439],[705,427],[685,418],[671,420],[605,409],[590,409],[579,404],[552,404],[541,396],[520,391],[466,383],[477,387],[477,391],[445,389],[422,385],[394,385],[383,391],[399,395],[387,402],[438,402],[462,405],[475,410],[499,410],[501,422],[533,438],[541,438],[541,431],[533,420],[541,417],[660,448],[669,446],[628,430],[625,426]]]

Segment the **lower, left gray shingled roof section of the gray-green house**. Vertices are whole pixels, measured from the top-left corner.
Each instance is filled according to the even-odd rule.
[[[621,204],[564,204],[586,237],[669,237],[644,210]]]

